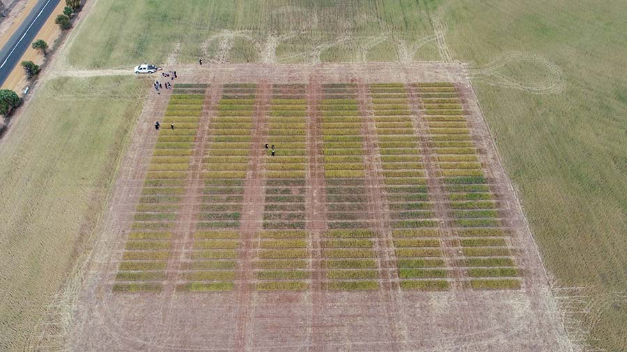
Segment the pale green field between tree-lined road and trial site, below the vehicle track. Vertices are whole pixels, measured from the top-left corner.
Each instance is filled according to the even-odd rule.
[[[118,77],[47,81],[1,140],[0,349],[20,349],[91,246],[143,86]]]

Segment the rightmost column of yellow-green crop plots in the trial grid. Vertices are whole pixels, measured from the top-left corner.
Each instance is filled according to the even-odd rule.
[[[460,237],[456,243],[463,258],[457,266],[465,268],[465,285],[472,289],[520,288],[520,273],[508,246],[509,232],[485,177],[479,150],[472,143],[456,86],[419,83],[415,89],[424,102],[421,109],[429,143],[437,154],[435,164],[447,194],[449,226]]]

